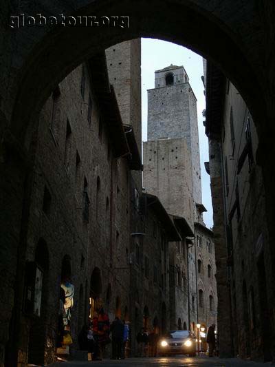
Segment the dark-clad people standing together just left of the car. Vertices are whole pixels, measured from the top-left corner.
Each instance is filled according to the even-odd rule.
[[[150,332],[142,328],[137,333],[137,357],[156,357],[159,335],[156,329]]]

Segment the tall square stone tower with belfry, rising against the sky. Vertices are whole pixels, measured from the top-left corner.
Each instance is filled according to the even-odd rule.
[[[144,170],[144,187],[157,193],[168,213],[191,226],[202,221],[197,99],[183,66],[157,70],[155,88],[148,90]]]

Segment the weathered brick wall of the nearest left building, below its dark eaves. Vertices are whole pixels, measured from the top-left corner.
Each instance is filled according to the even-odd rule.
[[[104,125],[100,133],[100,111],[93,87],[86,78],[85,96],[80,94],[81,67],[69,74],[60,84],[58,119],[52,129],[49,126],[52,114],[52,98],[41,112],[37,140],[32,202],[28,221],[27,259],[34,260],[34,251],[39,238],[47,243],[50,254],[47,289],[45,329],[47,344],[54,349],[58,312],[61,263],[64,255],[72,259],[72,284],[75,286],[75,304],[72,310],[73,350],[78,348],[79,322],[87,320],[91,273],[100,269],[102,297],[111,318],[115,315],[116,298],[120,297],[122,309],[129,307],[129,271],[117,270],[128,264],[126,248],[129,243],[129,183],[126,160],[113,161],[108,157],[108,143]],[[86,68],[86,76],[89,72]],[[91,125],[87,120],[88,98],[92,94]],[[67,123],[72,129],[70,141],[66,139]],[[103,122],[104,124],[104,122]],[[67,146],[65,142],[67,140]],[[65,154],[67,151],[67,154]],[[76,154],[80,162],[76,167]],[[83,191],[87,180],[89,196],[89,222],[83,221]],[[111,180],[113,193],[111,193]],[[52,196],[50,211],[43,212],[44,188]],[[111,205],[111,200],[113,205]],[[109,201],[109,205],[107,205]],[[113,207],[110,215],[110,207]],[[111,231],[112,226],[112,231]],[[111,236],[110,238],[110,231]],[[112,247],[112,249],[110,248]],[[80,270],[80,271],[79,271]],[[80,300],[80,289],[87,284],[86,298]],[[111,284],[111,300],[107,303],[107,288]],[[80,302],[84,302],[80,304]],[[83,315],[80,315],[81,310]],[[53,321],[54,320],[54,321]],[[42,347],[42,346],[41,346]],[[29,350],[30,353],[30,350]],[[46,354],[47,353],[47,354]],[[50,363],[45,351],[45,363]]]

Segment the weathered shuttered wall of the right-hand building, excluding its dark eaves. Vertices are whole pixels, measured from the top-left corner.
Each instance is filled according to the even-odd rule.
[[[259,140],[248,107],[232,83],[225,93],[222,134],[235,353],[243,358],[268,360],[272,328],[264,315],[272,306],[268,295],[265,189],[261,168],[256,165]],[[251,149],[241,165],[249,139]]]

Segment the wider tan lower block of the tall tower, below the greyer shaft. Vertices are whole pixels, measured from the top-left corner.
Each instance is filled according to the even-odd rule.
[[[157,195],[168,213],[186,218],[192,226],[192,171],[185,139],[148,141],[143,147],[144,188]]]

